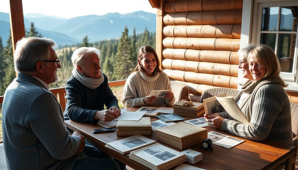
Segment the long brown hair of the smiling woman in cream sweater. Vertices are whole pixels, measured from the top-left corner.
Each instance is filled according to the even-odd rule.
[[[158,60],[158,57],[157,57],[157,54],[156,54],[155,50],[152,47],[150,47],[150,46],[142,46],[139,49],[139,52],[138,52],[138,59],[136,60],[136,62],[137,62],[136,68],[134,68],[134,70],[131,71],[131,73],[133,73],[133,72],[139,72],[139,71],[145,72],[144,68],[141,67],[141,64],[140,64],[139,60],[142,60],[143,59],[143,56],[145,55],[146,52],[151,52],[155,56],[156,67],[154,69],[154,73],[155,73],[155,71],[162,72],[160,70],[160,68],[159,68],[160,63],[159,63],[159,60]]]

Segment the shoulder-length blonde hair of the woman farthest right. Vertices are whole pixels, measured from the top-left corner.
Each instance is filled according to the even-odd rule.
[[[265,65],[265,67],[267,68],[267,72],[265,73],[263,79],[277,78],[280,80],[281,85],[283,87],[288,87],[288,84],[286,84],[280,77],[280,63],[277,56],[275,55],[275,52],[271,49],[271,47],[266,46],[264,44],[260,44],[258,46],[253,47],[248,55],[248,59],[250,58],[256,59],[257,62]]]

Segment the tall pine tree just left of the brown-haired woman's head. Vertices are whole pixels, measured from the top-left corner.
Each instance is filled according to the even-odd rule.
[[[131,41],[128,38],[128,28],[125,26],[119,40],[117,54],[115,57],[114,75],[116,80],[122,80],[128,77],[134,66],[132,56],[133,53],[131,51]]]

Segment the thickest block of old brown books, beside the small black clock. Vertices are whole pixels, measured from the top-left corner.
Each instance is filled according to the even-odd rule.
[[[207,139],[207,129],[196,127],[185,122],[156,129],[156,138],[165,144],[185,149]]]

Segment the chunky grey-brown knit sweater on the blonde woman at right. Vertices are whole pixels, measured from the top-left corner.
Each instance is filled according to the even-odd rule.
[[[293,145],[290,102],[280,83],[278,79],[246,81],[242,91],[249,95],[239,107],[250,123],[229,120],[221,114],[225,118],[222,129],[249,140]]]

